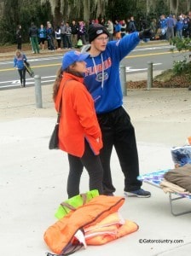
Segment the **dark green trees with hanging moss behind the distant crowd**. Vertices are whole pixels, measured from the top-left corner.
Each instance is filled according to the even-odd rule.
[[[63,18],[64,20],[79,20],[85,16],[87,22],[89,17],[90,19],[99,17],[114,21],[118,19],[127,20],[130,16],[134,16],[137,29],[140,29],[139,21],[141,19],[147,19],[149,23],[149,20],[153,18],[158,19],[159,15],[170,14],[165,0],[154,0],[153,2],[156,8],[150,9],[150,13],[147,14],[146,0],[55,0],[54,10],[51,9],[49,0],[43,1],[43,4],[39,0],[3,0],[3,15],[0,17],[0,44],[15,42],[16,27],[19,24],[22,26],[23,42],[28,42],[28,31],[32,21],[40,26],[40,24],[45,25],[47,20],[53,25],[57,25]],[[186,0],[179,2],[182,3],[179,5],[182,8],[182,13],[184,13],[183,7]],[[101,4],[99,8],[98,3]],[[89,8],[88,14],[87,9],[84,11],[84,4]],[[86,12],[86,15],[84,15],[84,12]]]

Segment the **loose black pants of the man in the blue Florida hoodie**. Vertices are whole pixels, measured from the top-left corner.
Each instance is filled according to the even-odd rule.
[[[120,107],[110,113],[97,115],[101,126],[103,148],[101,148],[101,164],[103,167],[103,192],[110,194],[115,191],[112,181],[110,159],[113,146],[119,157],[119,164],[124,173],[124,190],[140,189],[142,182],[139,175],[139,160],[136,148],[136,136],[130,116]]]

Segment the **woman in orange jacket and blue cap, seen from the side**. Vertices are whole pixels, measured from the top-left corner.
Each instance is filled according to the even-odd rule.
[[[67,52],[53,86],[55,109],[61,117],[59,148],[68,154],[68,198],[78,195],[80,177],[85,167],[90,176],[90,190],[102,190],[101,129],[96,118],[92,96],[84,86],[86,59],[89,54],[76,50]]]

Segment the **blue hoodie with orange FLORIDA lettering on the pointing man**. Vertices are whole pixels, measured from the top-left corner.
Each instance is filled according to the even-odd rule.
[[[88,57],[84,84],[94,99],[96,113],[108,113],[123,105],[119,78],[120,61],[139,44],[138,32],[125,35],[118,41],[109,41],[107,48],[96,57]],[[90,44],[82,52],[87,52]]]

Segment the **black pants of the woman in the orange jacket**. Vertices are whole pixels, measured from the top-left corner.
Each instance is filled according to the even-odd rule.
[[[67,195],[68,198],[78,195],[80,177],[85,167],[90,177],[89,188],[98,189],[99,194],[103,194],[102,189],[102,177],[103,169],[101,166],[101,160],[99,155],[95,155],[90,148],[89,143],[85,141],[85,150],[81,158],[68,154],[69,160],[69,175],[67,178]],[[85,191],[84,191],[85,192]]]

